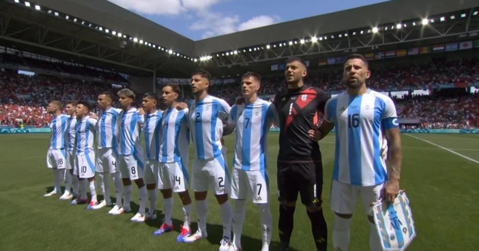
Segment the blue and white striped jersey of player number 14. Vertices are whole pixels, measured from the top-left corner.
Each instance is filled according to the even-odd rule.
[[[164,111],[161,120],[163,128],[158,158],[160,162],[182,161],[184,166],[188,166],[190,148],[188,115],[188,109],[178,111],[176,108],[169,108]]]

